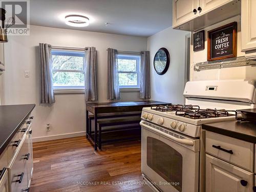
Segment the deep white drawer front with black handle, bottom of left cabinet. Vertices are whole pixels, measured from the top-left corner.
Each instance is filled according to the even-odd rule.
[[[27,185],[27,159],[28,146],[25,139],[20,142],[18,153],[15,153],[10,166],[8,167],[9,190],[10,191],[25,191]]]

